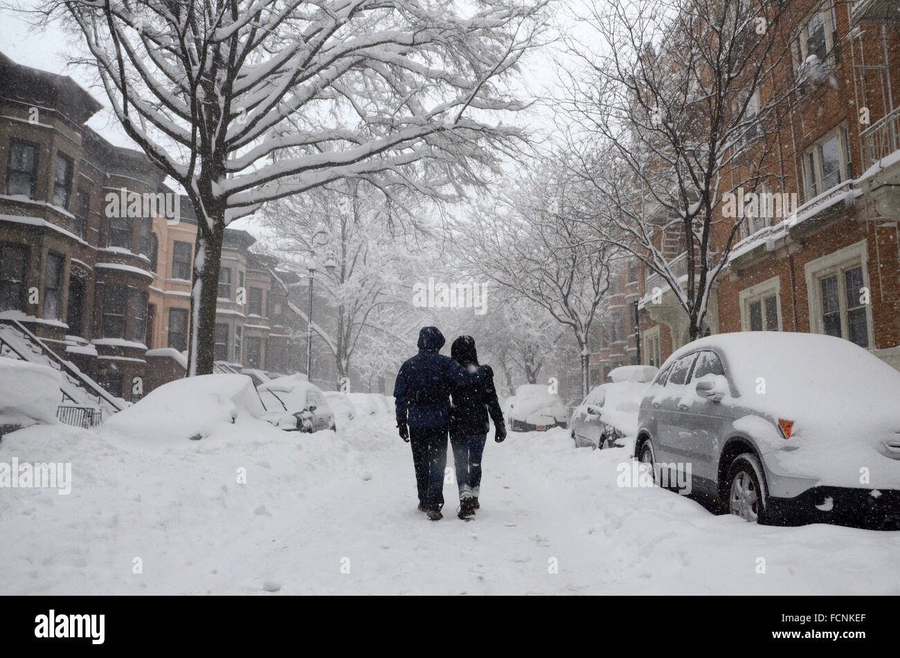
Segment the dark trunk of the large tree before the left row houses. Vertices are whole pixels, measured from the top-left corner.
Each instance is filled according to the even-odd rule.
[[[201,219],[201,221],[203,221]],[[216,332],[216,299],[219,297],[219,265],[223,221],[213,231],[201,229],[193,254],[190,339],[187,343],[187,377],[211,375]]]

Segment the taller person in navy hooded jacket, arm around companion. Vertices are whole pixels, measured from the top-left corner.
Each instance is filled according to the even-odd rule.
[[[430,520],[443,518],[450,392],[454,385],[470,386],[487,374],[483,366],[465,369],[438,353],[445,342],[437,327],[423,327],[419,353],[403,363],[394,385],[397,428],[412,447],[419,510],[427,512]]]

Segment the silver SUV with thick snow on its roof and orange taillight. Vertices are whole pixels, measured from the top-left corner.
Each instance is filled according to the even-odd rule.
[[[635,457],[658,484],[687,474],[743,519],[900,529],[900,372],[852,342],[690,342],[647,389],[638,424]]]

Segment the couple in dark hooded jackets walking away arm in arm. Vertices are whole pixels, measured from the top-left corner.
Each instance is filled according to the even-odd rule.
[[[493,371],[479,366],[472,336],[454,341],[452,358],[439,353],[445,342],[437,327],[424,327],[419,332],[419,354],[403,363],[394,386],[397,428],[412,447],[419,510],[430,520],[444,518],[447,434],[453,446],[460,519],[474,516],[479,508],[489,413],[496,430],[494,440],[506,439]]]

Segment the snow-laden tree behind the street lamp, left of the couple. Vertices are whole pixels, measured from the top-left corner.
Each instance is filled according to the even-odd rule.
[[[401,210],[393,206],[398,198]],[[331,183],[266,208],[263,222],[275,253],[296,270],[310,264],[320,270],[318,294],[326,309],[313,331],[326,338],[338,380],[350,377],[357,345],[366,335],[387,343],[401,340],[397,320],[413,310],[409,280],[419,274],[423,246],[391,230],[399,226],[399,211],[417,208],[410,195],[392,198],[360,181]],[[331,267],[323,269],[326,261]],[[367,345],[374,349],[371,340]],[[371,367],[367,371],[374,373]]]

